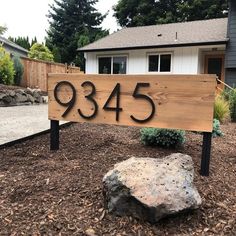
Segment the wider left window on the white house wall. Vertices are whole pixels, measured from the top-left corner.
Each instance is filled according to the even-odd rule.
[[[126,56],[111,56],[98,58],[99,74],[126,74],[126,70]]]

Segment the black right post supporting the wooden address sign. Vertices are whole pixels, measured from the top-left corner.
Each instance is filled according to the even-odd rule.
[[[202,176],[209,176],[210,158],[211,158],[211,140],[212,133],[203,133],[203,145],[202,145],[202,161],[201,171]]]

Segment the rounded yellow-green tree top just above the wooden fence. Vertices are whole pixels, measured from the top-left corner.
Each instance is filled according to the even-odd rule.
[[[44,61],[53,61],[52,52],[43,44],[35,43],[29,51],[29,58],[44,60]]]

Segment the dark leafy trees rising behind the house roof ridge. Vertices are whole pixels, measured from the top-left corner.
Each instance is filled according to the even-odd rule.
[[[227,16],[227,0],[119,0],[114,16],[122,27]]]

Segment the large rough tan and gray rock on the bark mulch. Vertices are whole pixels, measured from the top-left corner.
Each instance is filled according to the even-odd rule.
[[[168,215],[196,209],[201,197],[193,185],[188,155],[163,159],[132,157],[115,165],[103,178],[105,205],[116,215],[157,222]]]

